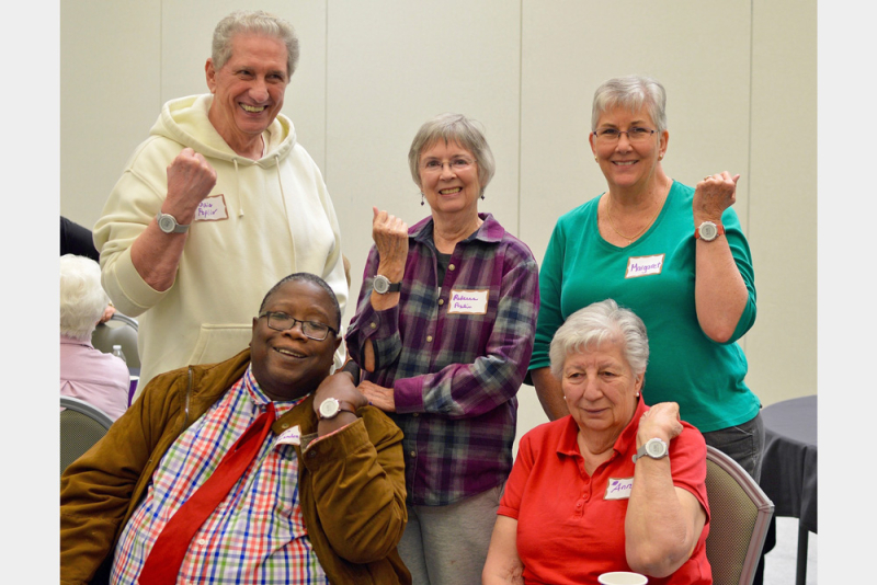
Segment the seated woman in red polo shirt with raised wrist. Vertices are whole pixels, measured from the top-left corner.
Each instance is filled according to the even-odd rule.
[[[640,397],[642,321],[612,299],[573,313],[551,341],[570,414],[521,439],[485,565],[485,585],[596,583],[612,571],[649,585],[713,583],[706,444],[673,402]]]

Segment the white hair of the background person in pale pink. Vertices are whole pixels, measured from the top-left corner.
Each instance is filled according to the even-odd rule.
[[[61,335],[89,341],[110,302],[101,286],[101,267],[90,257],[65,254],[60,275]]]

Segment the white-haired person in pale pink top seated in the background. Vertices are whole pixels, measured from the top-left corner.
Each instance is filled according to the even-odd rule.
[[[128,368],[116,356],[91,345],[107,300],[96,262],[73,254],[61,256],[61,395],[83,400],[115,421],[128,408]]]

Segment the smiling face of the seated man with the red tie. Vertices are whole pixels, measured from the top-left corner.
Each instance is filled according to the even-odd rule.
[[[328,292],[307,280],[282,285],[267,298],[263,310],[338,329]],[[295,400],[314,392],[329,376],[332,356],[340,344],[341,337],[331,331],[323,341],[315,341],[301,333],[300,323],[275,331],[267,326],[267,317],[254,318],[250,342],[253,376],[272,400]]]

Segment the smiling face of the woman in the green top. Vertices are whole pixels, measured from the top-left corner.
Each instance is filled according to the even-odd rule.
[[[657,129],[646,106],[638,112],[624,107],[615,107],[604,112],[597,122],[597,131],[603,128],[615,128],[627,131],[638,126],[650,130]],[[656,176],[660,159],[667,151],[669,133],[654,133],[642,141],[631,142],[626,134],[617,141],[602,144],[591,133],[591,150],[600,163],[600,169],[610,184],[610,191],[630,187],[645,187]]]

